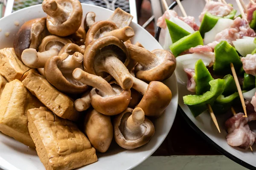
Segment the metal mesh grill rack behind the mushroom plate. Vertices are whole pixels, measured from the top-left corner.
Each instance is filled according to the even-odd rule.
[[[12,12],[25,7],[38,5],[42,2],[43,0],[15,0],[13,3]],[[129,0],[80,0],[80,2],[101,6],[111,10],[115,10],[115,8],[119,7],[122,8],[122,10],[130,13]]]

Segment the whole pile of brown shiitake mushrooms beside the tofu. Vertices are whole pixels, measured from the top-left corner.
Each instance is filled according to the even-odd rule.
[[[172,53],[133,45],[133,17],[120,8],[108,20],[88,12],[82,23],[79,0],[44,0],[42,7],[46,17],[27,21],[17,32],[17,57],[73,99],[98,152],[112,141],[129,150],[148,143],[155,131],[151,120],[172,99],[162,83],[175,70]]]

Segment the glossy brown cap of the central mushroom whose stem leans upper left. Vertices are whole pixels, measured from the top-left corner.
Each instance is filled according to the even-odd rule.
[[[116,84],[111,82],[113,90],[116,91],[115,96],[104,96],[96,88],[90,91],[91,105],[99,113],[113,116],[124,111],[131,100],[131,90],[125,91]]]

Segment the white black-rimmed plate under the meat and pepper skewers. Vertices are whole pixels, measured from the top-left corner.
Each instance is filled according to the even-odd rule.
[[[234,5],[234,8],[238,10],[236,1],[235,0],[226,0],[227,3],[232,3]],[[244,0],[244,2],[247,4],[248,1]],[[198,19],[199,14],[201,11],[203,11],[203,8],[205,6],[205,0],[183,0],[182,1],[183,7],[187,13],[187,15],[194,16],[196,23],[200,26],[200,22]],[[173,8],[175,11],[177,11],[179,16],[182,16],[182,13],[178,6],[176,6],[176,3],[173,3],[171,8]],[[196,9],[196,10],[195,10]],[[238,10],[239,14],[239,10]],[[157,28],[158,34],[156,34],[156,38],[159,36],[159,42],[161,45],[163,45],[164,42],[164,31]],[[158,38],[157,38],[158,39]],[[182,113],[183,117],[187,120],[189,125],[197,131],[200,136],[202,136],[207,142],[213,144],[215,148],[224,154],[225,156],[229,157],[233,161],[236,161],[237,163],[243,165],[244,167],[247,167],[249,169],[256,169],[256,154],[251,152],[250,150],[243,150],[239,149],[238,147],[231,147],[226,142],[226,136],[227,132],[224,127],[224,122],[232,116],[232,114],[224,114],[224,115],[216,115],[218,125],[220,127],[221,133],[218,133],[218,130],[216,129],[214,123],[212,122],[211,117],[209,116],[209,113],[205,111],[200,116],[195,118],[191,111],[189,110],[187,105],[184,105],[183,102],[183,96],[186,96],[188,94],[192,94],[186,89],[185,85],[182,85],[179,80],[178,82],[178,90],[179,90],[179,106],[181,109],[180,112]],[[253,126],[250,125],[250,128],[256,132],[256,129],[254,129]],[[256,150],[255,145],[253,145],[253,150]],[[254,151],[255,152],[255,151]]]

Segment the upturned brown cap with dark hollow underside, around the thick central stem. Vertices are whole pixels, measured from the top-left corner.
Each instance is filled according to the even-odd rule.
[[[125,66],[130,62],[129,52],[124,43],[116,37],[106,36],[94,40],[84,51],[84,71],[90,74],[99,75],[105,78],[105,73],[97,71],[97,56],[103,51],[108,51],[116,55]],[[96,69],[95,69],[96,68]]]

